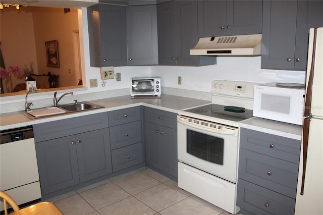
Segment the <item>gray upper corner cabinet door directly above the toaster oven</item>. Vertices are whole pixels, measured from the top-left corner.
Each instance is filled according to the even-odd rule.
[[[126,11],[128,65],[158,65],[156,5],[129,6]]]

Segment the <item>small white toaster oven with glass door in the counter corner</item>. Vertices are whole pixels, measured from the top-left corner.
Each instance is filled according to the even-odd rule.
[[[160,77],[151,78],[131,78],[130,79],[131,97],[160,97],[161,85]]]

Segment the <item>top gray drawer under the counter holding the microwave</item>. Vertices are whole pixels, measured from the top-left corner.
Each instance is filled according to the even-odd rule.
[[[241,128],[240,147],[299,164],[300,140]]]

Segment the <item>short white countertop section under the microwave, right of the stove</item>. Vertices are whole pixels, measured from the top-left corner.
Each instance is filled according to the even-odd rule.
[[[302,126],[253,117],[240,123],[241,128],[302,140]]]

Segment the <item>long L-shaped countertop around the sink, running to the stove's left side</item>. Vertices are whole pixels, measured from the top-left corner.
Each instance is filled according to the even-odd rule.
[[[0,115],[0,130],[19,128],[39,123],[51,122],[56,120],[80,117],[89,114],[108,112],[118,109],[131,108],[133,106],[144,105],[150,108],[156,108],[164,111],[177,113],[178,110],[191,108],[193,106],[210,103],[207,100],[180,97],[174,95],[161,95],[160,98],[135,98],[129,95],[118,96],[99,100],[90,100],[89,102],[104,106],[102,109],[77,112],[72,114],[56,115],[52,117],[44,117],[38,119],[29,119],[20,112],[12,112]]]

